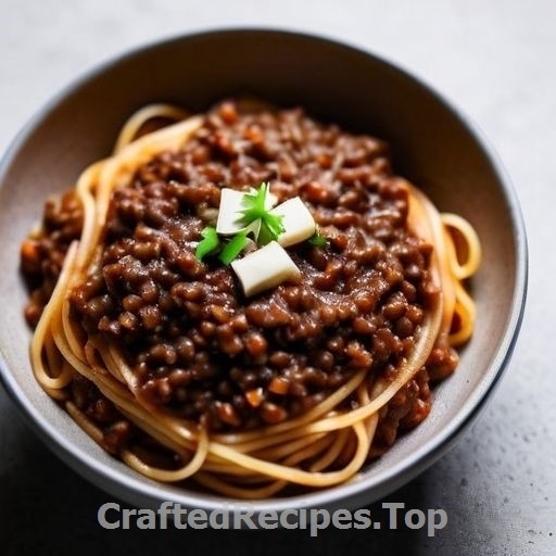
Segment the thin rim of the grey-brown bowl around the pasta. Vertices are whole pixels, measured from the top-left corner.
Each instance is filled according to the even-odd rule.
[[[363,475],[363,477],[357,480],[325,490],[293,496],[251,501],[249,503],[250,507],[254,508],[256,513],[268,510],[281,511],[293,507],[319,508],[336,506],[344,508],[349,506],[344,501],[356,501],[357,497],[358,501],[355,503],[368,504],[379,497],[388,495],[393,490],[414,479],[427,467],[432,465],[455,444],[464,430],[466,430],[470,422],[479,416],[480,412],[486,405],[486,402],[492,399],[492,392],[500,384],[500,379],[509,363],[516,345],[523,318],[528,286],[528,244],[519,200],[514,185],[511,184],[511,180],[493,146],[477,124],[471,122],[468,116],[464,115],[460,110],[452,103],[452,101],[447,100],[434,87],[422,80],[418,75],[415,75],[409,70],[403,67],[403,65],[397,61],[392,62],[382,54],[376,54],[370,49],[362,48],[361,46],[351,43],[344,39],[338,39],[325,34],[266,26],[216,27],[193,30],[190,33],[179,33],[166,38],[159,38],[142,42],[138,46],[127,48],[122,53],[109,56],[104,61],[94,64],[89,70],[81,72],[77,77],[55,92],[50,100],[43,103],[35,112],[35,114],[26,124],[24,124],[21,130],[10,142],[0,160],[0,188],[4,185],[5,175],[10,169],[12,161],[17,156],[22,146],[24,146],[33,136],[35,129],[48,118],[52,111],[64,102],[66,97],[78,92],[81,87],[87,86],[89,81],[94,80],[104,72],[114,68],[128,60],[140,58],[147,52],[160,48],[172,47],[174,43],[194,41],[199,39],[211,39],[212,37],[223,37],[226,35],[240,36],[253,34],[298,38],[314,43],[320,43],[323,46],[331,46],[336,49],[343,49],[349,51],[352,55],[355,54],[358,56],[371,58],[375,63],[382,65],[388,71],[401,75],[404,79],[413,81],[419,88],[426,90],[433,97],[435,102],[440,103],[444,110],[450,112],[457,119],[458,124],[478,144],[482,154],[491,164],[493,173],[497,177],[501,185],[501,193],[505,198],[510,213],[509,217],[514,227],[516,241],[516,271],[509,318],[506,321],[502,341],[500,342],[492,363],[488,368],[488,380],[481,381],[481,383],[476,387],[472,395],[469,396],[469,399],[467,399],[467,401],[458,408],[455,417],[442,427],[440,433],[420,445],[418,450],[410,454],[409,457],[405,457],[396,465],[388,467],[387,469],[381,470],[378,473],[374,473],[370,477],[365,477]],[[55,452],[56,455],[76,472],[86,477],[88,480],[108,492],[122,494],[121,497],[126,501],[141,501],[142,507],[144,507],[144,497],[155,503],[154,506],[151,504],[153,507],[157,507],[160,503],[168,500],[175,501],[185,507],[199,508],[207,511],[222,509],[223,502],[225,504],[229,504],[230,500],[232,501],[232,506],[238,508],[244,507],[247,504],[244,501],[235,501],[233,498],[228,498],[226,496],[197,493],[187,490],[184,490],[178,495],[176,495],[175,492],[169,493],[172,495],[169,497],[165,497],[164,494],[166,493],[167,484],[156,483],[139,475],[137,477],[125,475],[116,469],[117,466],[109,467],[104,463],[96,459],[85,450],[76,446],[67,440],[67,438],[65,438],[54,425],[49,421],[45,421],[39,416],[37,408],[27,399],[25,392],[20,388],[14,375],[10,370],[1,346],[0,382],[3,384],[10,397],[15,402],[15,406],[24,417],[24,420],[49,446],[49,448]],[[172,485],[169,486],[172,488]]]

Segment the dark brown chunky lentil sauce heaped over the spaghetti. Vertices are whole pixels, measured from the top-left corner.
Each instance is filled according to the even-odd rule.
[[[215,220],[222,188],[262,181],[278,202],[299,195],[327,242],[288,248],[302,279],[247,299],[230,267],[200,262],[194,250]],[[407,211],[407,190],[383,141],[301,109],[240,114],[224,102],[192,140],[114,190],[99,262],[72,291],[72,311],[91,338],[117,343],[143,402],[212,431],[280,422],[362,369],[369,380],[393,378],[412,351],[434,288],[432,247],[410,232]],[[75,195],[47,203],[42,225],[22,248],[31,326],[79,238]],[[451,348],[435,346],[382,408],[370,456],[428,415],[430,380],[456,364]],[[117,452],[130,424],[87,380],[70,389],[103,427],[106,450]]]

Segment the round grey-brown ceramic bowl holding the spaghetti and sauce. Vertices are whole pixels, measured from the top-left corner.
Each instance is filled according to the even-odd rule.
[[[143,508],[174,501],[220,508],[224,496],[154,482],[94,444],[33,376],[22,239],[46,198],[75,182],[110,153],[134,110],[152,101],[195,111],[250,93],[303,105],[317,117],[390,142],[397,174],[442,211],[467,218],[483,262],[472,281],[478,321],[456,372],[434,389],[428,419],[353,481],[316,492],[253,501],[255,511],[354,508],[416,477],[460,438],[493,393],[510,357],[523,311],[527,244],[518,201],[478,128],[429,86],[376,55],[326,38],[273,29],[188,35],[112,60],[59,93],[21,131],[0,167],[1,376],[30,427],[72,468],[112,495]]]

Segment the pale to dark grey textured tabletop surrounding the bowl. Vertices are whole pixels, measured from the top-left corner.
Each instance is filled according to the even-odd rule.
[[[387,498],[444,508],[450,522],[434,539],[406,528],[330,530],[318,539],[293,531],[104,531],[96,515],[110,495],[51,455],[0,389],[2,554],[556,554],[555,20],[548,0],[0,0],[0,152],[76,75],[144,41],[245,25],[324,34],[413,71],[479,124],[516,185],[531,257],[522,333],[492,402],[456,448]]]

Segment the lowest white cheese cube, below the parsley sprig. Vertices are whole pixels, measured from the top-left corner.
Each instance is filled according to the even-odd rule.
[[[276,241],[231,263],[247,296],[300,277],[300,269]]]

